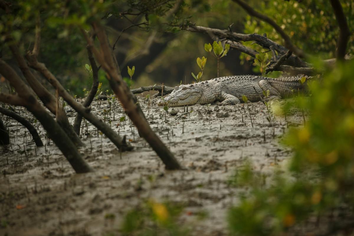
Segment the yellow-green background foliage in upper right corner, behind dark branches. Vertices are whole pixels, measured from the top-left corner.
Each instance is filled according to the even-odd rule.
[[[341,1],[344,14],[347,17],[350,31],[354,31],[354,1]],[[333,58],[336,51],[336,43],[339,35],[339,27],[333,13],[332,6],[327,0],[284,1],[267,0],[251,1],[250,5],[255,10],[272,18],[287,33],[293,44],[302,48],[305,52],[317,55],[322,59]],[[245,33],[258,33],[281,45],[283,40],[280,35],[268,23],[251,16],[244,22]],[[348,54],[354,52],[354,35],[352,34],[348,44]],[[260,51],[261,47],[252,42],[244,45]],[[242,59],[251,57],[242,53]]]

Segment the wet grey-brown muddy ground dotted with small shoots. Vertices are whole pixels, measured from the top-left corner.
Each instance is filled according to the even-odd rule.
[[[194,235],[227,235],[227,209],[237,204],[244,190],[228,180],[245,160],[271,177],[292,155],[279,139],[289,126],[303,124],[302,114],[293,113],[287,121],[275,117],[272,125],[261,102],[194,105],[188,112],[177,107],[177,115],[165,116],[156,101],[139,101],[152,129],[187,170],[166,171],[128,117],[120,122],[122,107],[112,100],[112,105],[109,100],[94,101],[92,112],[110,120],[135,148],[120,153],[84,121],[81,135],[86,146],[80,152],[95,169],[88,174],[75,174],[51,140],[36,148],[27,130],[8,120],[12,144],[0,147],[0,235],[120,235],[126,212],[147,199],[182,203],[180,223]],[[65,109],[74,122],[75,112]],[[33,120],[23,108],[16,111]],[[45,131],[37,126],[47,143]],[[200,213],[203,220],[198,220]]]

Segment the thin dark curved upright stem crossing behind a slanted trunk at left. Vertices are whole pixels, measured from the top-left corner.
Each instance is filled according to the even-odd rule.
[[[92,56],[92,52],[89,48],[89,46],[87,46],[87,54],[89,56],[89,61],[91,64],[91,68],[92,68],[92,87],[91,90],[89,92],[89,95],[87,95],[84,103],[82,104],[84,107],[89,107],[93,101],[93,98],[95,97],[97,90],[98,90],[98,68],[95,62],[95,59]],[[75,122],[74,122],[74,131],[80,135],[80,127],[81,127],[81,120],[82,120],[82,115],[80,113],[76,114],[75,117]]]

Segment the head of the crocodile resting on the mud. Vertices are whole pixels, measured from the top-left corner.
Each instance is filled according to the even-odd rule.
[[[202,88],[191,85],[180,85],[175,88],[169,95],[165,97],[165,102],[168,103],[169,107],[180,107],[184,105],[194,105],[198,103],[202,96]],[[164,100],[160,99],[158,105],[165,105]]]

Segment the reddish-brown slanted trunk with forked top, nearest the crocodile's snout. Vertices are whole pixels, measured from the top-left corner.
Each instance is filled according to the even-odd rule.
[[[140,110],[136,102],[134,102],[133,94],[129,90],[127,84],[122,80],[118,63],[115,60],[112,47],[109,45],[107,35],[102,26],[95,22],[93,24],[93,28],[101,45],[101,52],[98,52],[97,49],[93,46],[92,40],[89,38],[89,36],[87,36],[86,32],[82,30],[82,33],[84,34],[89,46],[91,47],[93,54],[96,56],[96,59],[99,63],[101,63],[102,68],[107,72],[109,84],[116,97],[119,98],[126,114],[137,127],[142,137],[150,144],[162,162],[164,162],[166,169],[181,169],[181,165],[175,159],[172,152],[152,131],[144,115],[139,112]]]

